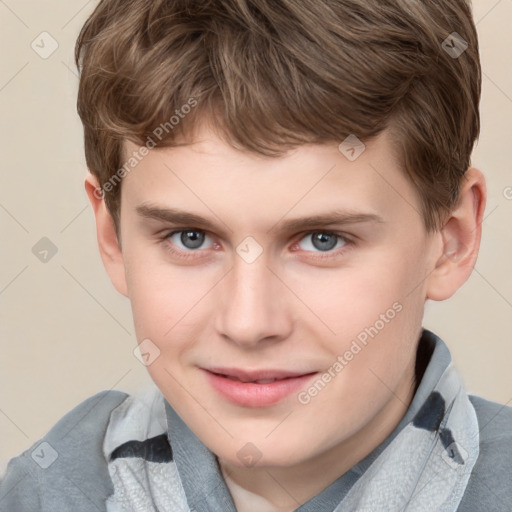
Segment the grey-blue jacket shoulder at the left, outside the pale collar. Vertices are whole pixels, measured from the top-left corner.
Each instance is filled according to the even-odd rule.
[[[112,410],[129,396],[96,393],[11,459],[0,482],[0,511],[101,510],[112,492],[103,439]]]

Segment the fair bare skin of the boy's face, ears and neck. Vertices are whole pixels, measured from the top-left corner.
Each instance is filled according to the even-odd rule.
[[[123,179],[121,243],[94,194],[96,179],[86,178],[107,272],[131,301],[138,342],[149,338],[160,350],[148,371],[217,455],[239,511],[294,510],[392,432],[414,394],[425,302],[448,299],[471,274],[486,199],[482,173],[468,170],[443,228],[427,234],[390,147],[384,132],[353,162],[334,143],[273,159],[237,151],[205,125],[193,144],[152,150]],[[129,156],[137,147],[125,149]],[[141,204],[194,212],[215,229],[144,218]],[[278,229],[335,208],[382,222]],[[180,234],[165,238],[180,228],[206,232],[203,244],[191,249]],[[353,243],[340,238],[322,250],[315,231]],[[248,236],[263,250],[252,263],[236,252]],[[307,405],[297,393],[269,407],[232,404],[198,368],[321,375],[396,302],[402,310]],[[261,457],[254,466],[237,456],[249,442]]]

